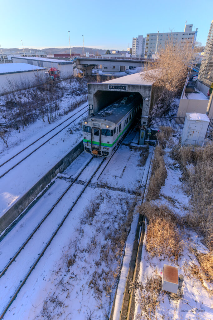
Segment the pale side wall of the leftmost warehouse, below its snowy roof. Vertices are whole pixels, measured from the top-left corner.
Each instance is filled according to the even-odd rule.
[[[0,75],[0,94],[9,93],[18,89],[25,89],[29,86],[31,87],[38,79],[40,81],[45,79],[45,72],[47,72],[47,70]]]

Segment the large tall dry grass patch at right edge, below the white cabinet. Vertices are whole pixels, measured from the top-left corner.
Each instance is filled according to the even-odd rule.
[[[191,196],[190,212],[185,224],[204,236],[209,249],[213,247],[213,143],[204,148],[183,147],[175,155],[183,170],[185,189]]]

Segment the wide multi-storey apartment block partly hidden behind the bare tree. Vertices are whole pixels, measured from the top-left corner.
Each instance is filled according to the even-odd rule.
[[[172,40],[181,44],[184,42],[189,42],[194,45],[196,36],[197,36],[197,28],[196,31],[192,31],[193,24],[186,24],[184,31],[182,32],[164,32],[160,33],[147,33],[146,37],[146,46],[145,46],[145,58],[152,58],[152,54],[158,52],[158,48],[160,46],[164,46],[165,42],[172,38]]]

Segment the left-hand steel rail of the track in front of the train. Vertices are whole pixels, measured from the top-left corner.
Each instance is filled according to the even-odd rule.
[[[19,255],[19,253],[21,252],[21,250],[26,246],[26,244],[29,242],[29,240],[32,238],[32,236],[34,235],[34,233],[38,230],[38,228],[40,228],[40,226],[42,225],[42,223],[44,222],[44,220],[46,220],[46,218],[49,216],[49,214],[53,211],[53,209],[55,208],[55,206],[59,203],[59,201],[63,198],[63,196],[66,194],[66,192],[72,187],[73,183],[79,178],[79,176],[81,175],[81,173],[84,171],[84,169],[87,167],[87,165],[92,161],[92,159],[94,158],[94,156],[87,161],[87,163],[85,164],[85,166],[83,167],[83,169],[80,171],[80,173],[75,177],[75,179],[69,184],[69,186],[66,188],[66,190],[62,193],[62,195],[58,198],[58,200],[53,204],[53,206],[51,207],[51,209],[47,212],[47,214],[42,218],[42,220],[39,222],[39,224],[36,226],[36,228],[34,228],[34,230],[31,232],[31,234],[27,237],[27,239],[25,240],[25,242],[19,247],[18,251],[13,255],[13,257],[11,258],[11,260],[7,263],[7,265],[3,268],[3,270],[0,272],[0,278],[4,275],[5,271],[7,271],[8,267],[11,265],[11,263],[17,258],[17,256]]]

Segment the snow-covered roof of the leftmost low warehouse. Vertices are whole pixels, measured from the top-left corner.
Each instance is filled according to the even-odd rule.
[[[34,70],[45,70],[46,68],[33,66],[27,63],[0,63],[0,75],[8,73],[28,72]]]

